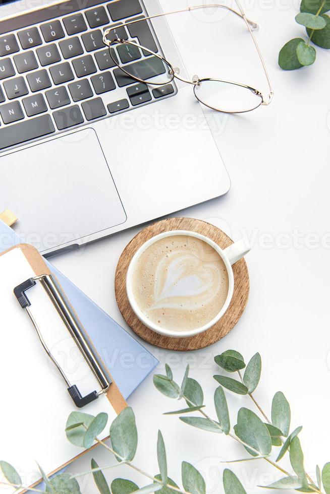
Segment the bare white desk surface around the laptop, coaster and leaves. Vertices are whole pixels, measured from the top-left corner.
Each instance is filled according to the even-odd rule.
[[[185,6],[186,0],[179,3]],[[172,5],[174,0],[169,2],[169,6]],[[322,465],[330,461],[324,437],[330,402],[330,168],[327,158],[330,53],[317,49],[313,67],[281,71],[277,65],[279,49],[289,39],[304,34],[303,28],[294,21],[298,2],[292,5],[291,0],[246,0],[245,6],[248,16],[260,25],[256,36],[276,95],[269,107],[245,116],[217,115],[217,122],[223,126],[216,139],[232,180],[231,190],[223,198],[190,208],[180,215],[213,222],[234,239],[244,232],[252,238],[253,250],[247,257],[251,283],[249,302],[235,329],[209,348],[176,353],[146,346],[160,360],[158,372],[164,373],[164,363],[168,362],[179,382],[187,362],[190,363],[190,375],[201,383],[207,409],[213,416],[212,396],[216,383],[212,375],[217,372],[213,356],[233,348],[248,359],[259,351],[263,372],[256,398],[270,413],[273,394],[282,390],[287,395],[292,408],[292,425],[304,425],[301,441],[306,469],[314,475],[316,463]],[[221,21],[219,26],[225,29],[225,23],[226,20]],[[223,40],[222,45],[225,57],[228,39]],[[199,50],[195,53],[197,58],[205,54],[203,44]],[[214,60],[215,68],[216,64]],[[139,230],[137,227],[124,231],[53,261],[126,329],[116,305],[114,274],[122,250]],[[240,406],[253,409],[246,397],[228,392],[228,400],[233,425],[234,412]],[[230,438],[194,429],[177,417],[163,416],[162,412],[179,409],[181,404],[160,395],[152,384],[152,376],[133,394],[129,404],[134,408],[139,432],[134,462],[151,474],[158,471],[158,428],[166,442],[171,477],[181,482],[181,461],[189,461],[204,473],[210,493],[223,492],[221,473],[226,465],[219,461],[247,456]],[[100,465],[113,462],[101,449],[92,454]],[[255,493],[258,490],[255,485],[278,478],[278,472],[264,463],[259,460],[235,463],[231,467],[240,475],[247,491]],[[89,465],[90,455],[86,455],[70,466],[70,471],[85,471]],[[139,486],[148,483],[125,466],[107,470],[105,475],[109,480],[116,476],[135,479]],[[84,493],[97,492],[90,476],[81,477],[81,488]]]

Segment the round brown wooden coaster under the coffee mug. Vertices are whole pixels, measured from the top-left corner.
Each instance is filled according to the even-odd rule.
[[[189,338],[173,338],[163,336],[150,330],[136,317],[129,304],[126,294],[126,273],[130,261],[139,247],[149,238],[169,230],[190,230],[201,233],[214,240],[225,249],[233,240],[226,233],[206,221],[193,218],[169,218],[158,221],[140,231],[128,245],[126,245],[117,265],[115,276],[115,292],[118,307],[126,323],[132,330],[152,345],[168,350],[198,350],[220,340],[235,326],[243,314],[249,296],[249,274],[244,259],[233,265],[234,295],[226,314],[210,329]]]

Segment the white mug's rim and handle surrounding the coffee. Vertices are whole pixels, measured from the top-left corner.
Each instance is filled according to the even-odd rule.
[[[160,240],[161,238],[164,237],[169,237],[173,235],[188,235],[192,236],[195,238],[199,238],[200,240],[203,240],[204,242],[208,243],[213,247],[213,249],[217,252],[217,254],[222,258],[222,260],[225,263],[227,273],[228,273],[228,280],[229,280],[229,286],[228,286],[228,294],[226,301],[224,305],[222,306],[221,310],[218,312],[218,314],[207,324],[204,324],[204,326],[201,326],[199,328],[195,328],[192,330],[188,331],[173,331],[169,329],[164,329],[156,324],[153,324],[152,322],[149,321],[149,319],[144,315],[144,313],[141,311],[139,308],[138,304],[136,303],[136,300],[133,295],[133,286],[132,286],[132,275],[134,268],[136,266],[136,263],[142,253],[154,242],[157,240]],[[234,273],[233,273],[233,268],[232,265],[235,264],[237,261],[239,261],[242,257],[245,256],[249,251],[251,250],[250,245],[247,243],[247,241],[242,238],[241,240],[232,243],[227,249],[221,249],[217,243],[215,243],[213,240],[210,238],[206,237],[205,235],[201,235],[200,233],[194,232],[194,231],[188,231],[188,230],[170,230],[170,231],[165,231],[163,233],[159,233],[158,235],[155,235],[154,237],[151,237],[149,240],[147,240],[145,243],[141,245],[141,247],[136,251],[134,256],[131,259],[131,262],[129,264],[128,270],[127,270],[127,275],[126,275],[126,292],[128,296],[128,300],[130,302],[130,305],[135,313],[135,315],[138,317],[138,319],[149,329],[152,329],[152,331],[155,331],[158,334],[165,335],[165,336],[173,336],[176,338],[185,338],[187,336],[194,336],[198,333],[202,333],[203,331],[206,331],[209,329],[211,326],[213,326],[219,319],[223,317],[225,312],[227,311],[229,304],[233,298],[233,293],[234,293]]]

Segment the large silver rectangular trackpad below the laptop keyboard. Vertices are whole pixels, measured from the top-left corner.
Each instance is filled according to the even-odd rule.
[[[0,166],[0,211],[15,212],[15,231],[40,252],[126,221],[94,129],[13,152]]]

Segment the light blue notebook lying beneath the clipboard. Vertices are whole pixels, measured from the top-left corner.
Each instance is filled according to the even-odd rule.
[[[0,220],[0,252],[18,243],[24,241]],[[127,399],[158,360],[46,259],[45,263],[57,276],[86,333]]]

